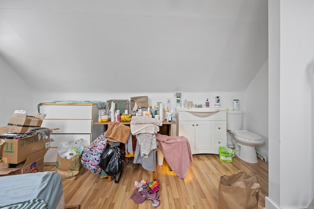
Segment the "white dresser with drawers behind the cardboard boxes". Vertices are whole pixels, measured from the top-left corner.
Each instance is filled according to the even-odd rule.
[[[95,103],[41,103],[39,112],[47,114],[41,127],[58,128],[53,130],[50,137],[50,149],[45,155],[44,164],[56,163],[60,142],[83,139],[83,145],[87,147],[101,135],[104,127],[94,125],[98,121],[99,110]]]

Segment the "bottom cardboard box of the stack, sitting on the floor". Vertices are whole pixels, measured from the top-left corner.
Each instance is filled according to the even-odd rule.
[[[0,176],[35,173],[44,171],[44,156],[48,149],[30,155],[26,161],[18,164],[0,163]]]

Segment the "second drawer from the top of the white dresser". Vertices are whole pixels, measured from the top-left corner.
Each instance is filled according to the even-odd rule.
[[[90,134],[92,133],[92,120],[44,119],[41,127],[59,128],[53,130],[55,134]]]

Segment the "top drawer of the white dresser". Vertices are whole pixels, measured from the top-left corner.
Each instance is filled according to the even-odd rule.
[[[93,105],[41,105],[45,119],[92,119]],[[97,111],[98,114],[98,111]],[[97,117],[98,118],[98,117]]]

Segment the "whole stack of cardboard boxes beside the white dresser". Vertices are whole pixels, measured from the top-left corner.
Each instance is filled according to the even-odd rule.
[[[45,114],[14,113],[8,125],[0,127],[0,135],[7,132],[26,133],[27,130],[40,127]],[[44,168],[44,156],[50,146],[50,137],[39,139],[38,134],[22,139],[0,139],[0,176],[41,172]]]

